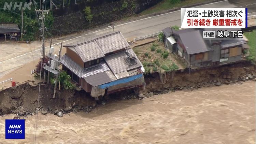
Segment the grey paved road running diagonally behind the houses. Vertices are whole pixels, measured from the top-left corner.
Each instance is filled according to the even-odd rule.
[[[198,8],[248,8],[248,15],[255,15],[255,0],[225,0],[221,2],[215,2],[210,4],[205,4],[201,6],[196,6]],[[166,27],[173,25],[180,26],[180,11],[170,12],[166,14],[161,14],[157,16],[147,17],[136,21],[131,21],[124,24],[119,24],[115,26],[115,31],[121,31],[127,40],[132,40],[135,37],[141,37],[143,35],[151,34],[154,32],[161,31]],[[112,28],[106,28],[97,30],[91,33],[82,33],[79,35],[68,35],[65,38],[54,39],[53,42],[58,44],[63,41],[63,44],[68,44],[78,40],[83,40],[85,38],[105,33],[111,31]],[[35,42],[38,44],[38,42]],[[35,44],[34,43],[34,44]],[[31,44],[30,44],[31,45]],[[49,44],[46,44],[46,51],[48,51]],[[31,46],[30,46],[31,47]],[[35,48],[38,47],[38,48]],[[1,62],[0,62],[0,77],[6,73],[14,70],[17,67],[23,66],[24,64],[31,62],[33,60],[38,60],[41,56],[39,51],[39,44],[34,46],[33,49],[27,48],[23,51],[17,49],[15,51],[12,49],[12,45],[1,44]],[[58,51],[58,46],[55,46],[56,51]],[[12,49],[12,51],[10,51]]]

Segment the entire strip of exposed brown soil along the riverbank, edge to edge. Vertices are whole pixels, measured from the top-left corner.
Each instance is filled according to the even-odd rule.
[[[162,81],[160,79],[162,77]],[[175,73],[152,73],[145,76],[146,90],[143,95],[134,89],[114,93],[104,99],[96,101],[85,91],[60,90],[53,99],[53,87],[41,85],[39,96],[39,109],[47,113],[60,110],[63,113],[73,111],[89,112],[97,104],[103,104],[109,98],[112,100],[143,99],[159,93],[168,93],[175,90],[194,90],[200,87],[211,87],[222,84],[241,83],[242,81],[255,81],[255,66],[249,62],[241,62],[216,68],[189,70]],[[0,115],[14,113],[19,116],[37,113],[39,85],[25,83],[16,87],[0,91]],[[71,110],[65,111],[67,107]]]

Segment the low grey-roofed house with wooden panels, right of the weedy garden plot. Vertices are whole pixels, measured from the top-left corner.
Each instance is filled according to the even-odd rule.
[[[189,67],[205,67],[241,61],[246,42],[240,39],[203,39],[203,29],[172,29],[177,42],[177,54],[184,58]]]

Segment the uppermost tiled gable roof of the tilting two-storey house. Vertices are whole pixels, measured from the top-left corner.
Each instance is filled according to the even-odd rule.
[[[91,37],[82,41],[64,45],[66,47],[74,47],[77,54],[83,62],[104,57],[119,49],[129,47],[123,34],[118,32],[108,32],[95,37]]]

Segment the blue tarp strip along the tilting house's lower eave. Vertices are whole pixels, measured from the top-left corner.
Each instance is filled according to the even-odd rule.
[[[137,75],[127,77],[127,78],[122,78],[120,80],[116,80],[116,81],[109,82],[109,83],[106,83],[106,84],[103,84],[103,85],[99,85],[99,88],[104,89],[104,88],[111,87],[111,86],[114,86],[114,85],[128,83],[128,82],[136,80],[137,78],[140,78],[142,76],[143,76],[143,74],[141,73],[141,74],[137,74]]]

